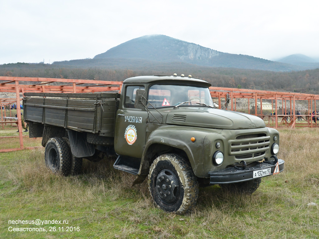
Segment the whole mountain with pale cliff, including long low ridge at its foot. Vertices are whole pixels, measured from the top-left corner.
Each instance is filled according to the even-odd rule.
[[[118,69],[147,69],[154,65],[191,64],[205,67],[292,71],[318,68],[316,64],[295,65],[269,61],[249,55],[219,52],[194,43],[165,35],[147,35],[124,42],[93,59],[54,62],[69,67],[104,67]]]

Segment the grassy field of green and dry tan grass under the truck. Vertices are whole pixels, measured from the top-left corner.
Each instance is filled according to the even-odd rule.
[[[83,174],[63,177],[47,170],[43,148],[0,153],[0,238],[319,238],[318,135],[280,129],[283,173],[263,178],[252,195],[201,188],[197,206],[183,216],[155,208],[146,182],[131,187],[134,176],[113,169],[112,160],[85,160]],[[8,223],[36,219],[68,224]]]

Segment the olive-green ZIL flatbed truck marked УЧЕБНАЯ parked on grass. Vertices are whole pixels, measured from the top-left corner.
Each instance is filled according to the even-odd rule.
[[[54,173],[77,174],[82,159],[116,153],[114,168],[148,177],[155,204],[184,213],[199,186],[254,192],[284,170],[279,133],[256,116],[216,109],[210,83],[191,76],[139,76],[122,93],[25,93],[30,137],[42,137]]]

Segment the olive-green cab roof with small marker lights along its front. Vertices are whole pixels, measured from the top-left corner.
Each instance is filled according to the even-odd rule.
[[[181,82],[181,83],[195,83],[210,87],[211,84],[207,81],[203,81],[198,78],[193,78],[189,76],[163,76],[163,75],[153,75],[153,76],[136,76],[131,77],[123,81],[123,83],[151,83],[151,82]]]

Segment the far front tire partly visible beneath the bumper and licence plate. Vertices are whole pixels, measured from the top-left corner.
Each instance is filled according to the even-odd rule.
[[[221,184],[219,186],[227,192],[252,194],[257,190],[260,183],[261,178],[256,178],[242,183]]]

